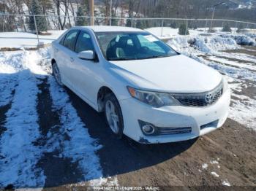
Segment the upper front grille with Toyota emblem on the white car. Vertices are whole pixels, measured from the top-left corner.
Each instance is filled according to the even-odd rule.
[[[214,90],[205,93],[171,93],[183,106],[208,106],[214,104],[222,96],[222,82]]]

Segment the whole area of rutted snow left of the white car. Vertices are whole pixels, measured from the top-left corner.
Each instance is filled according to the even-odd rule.
[[[0,187],[43,187],[47,178],[39,160],[45,153],[59,150],[60,158],[72,158],[83,173],[81,181],[90,185],[118,185],[117,177],[102,176],[102,168],[96,152],[102,146],[88,133],[80,120],[69,96],[55,79],[48,75],[50,48],[39,51],[1,52],[0,54],[0,104],[11,103],[4,123],[6,130],[0,137]],[[37,85],[39,79],[48,79],[53,111],[59,112],[61,127],[58,133],[47,134],[46,143],[40,147],[34,143],[42,138],[37,114]],[[13,83],[12,83],[13,82]],[[2,85],[4,84],[4,85]],[[5,88],[7,90],[5,90]],[[15,93],[12,95],[12,90]],[[69,137],[65,139],[64,134]]]

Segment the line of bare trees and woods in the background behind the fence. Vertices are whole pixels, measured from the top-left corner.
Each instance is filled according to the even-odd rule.
[[[94,0],[94,15],[100,17],[182,17],[182,18],[211,18],[214,4],[212,0]],[[230,5],[231,6],[231,5]],[[223,5],[216,9],[216,18],[233,18],[237,20],[250,20],[256,22],[256,9],[231,9]],[[89,19],[82,16],[90,16],[89,0],[4,0],[0,1],[0,12],[18,14],[16,17],[0,18],[0,24],[4,23],[6,30],[23,28],[23,31],[35,31],[34,21],[38,31],[49,29],[69,28],[73,25],[89,25]],[[110,14],[111,12],[111,14]],[[54,15],[55,17],[23,17],[30,15]],[[117,20],[96,18],[97,25],[132,26],[132,20]],[[178,22],[165,22],[165,26],[181,24]],[[133,26],[148,28],[159,26],[156,20],[135,20]],[[195,28],[195,23],[189,23],[189,28]]]

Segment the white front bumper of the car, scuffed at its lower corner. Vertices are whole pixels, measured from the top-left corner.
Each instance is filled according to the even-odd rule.
[[[195,106],[163,106],[153,108],[135,98],[120,101],[124,118],[124,134],[143,144],[186,141],[202,136],[221,127],[227,119],[230,105],[230,90],[219,100],[206,107]],[[158,128],[191,127],[190,133],[145,136],[140,129],[138,120],[153,124]],[[214,122],[211,124],[211,122]],[[206,125],[209,124],[210,125]],[[205,128],[202,128],[206,125]]]

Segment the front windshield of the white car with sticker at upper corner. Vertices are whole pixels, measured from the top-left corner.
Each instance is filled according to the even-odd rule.
[[[108,61],[127,61],[177,55],[171,47],[147,32],[95,33]]]

